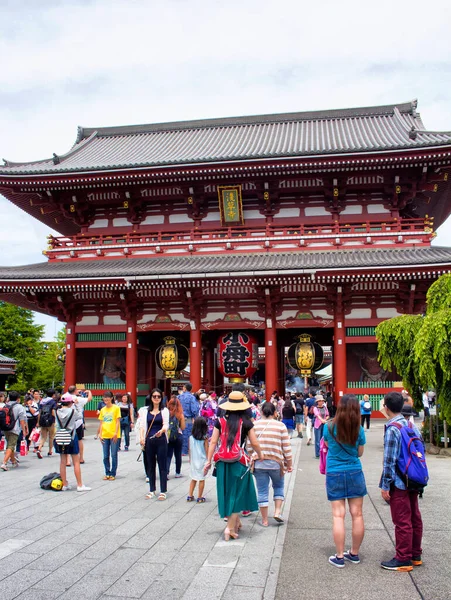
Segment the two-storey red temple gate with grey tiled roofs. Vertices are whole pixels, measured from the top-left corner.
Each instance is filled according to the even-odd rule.
[[[228,332],[264,349],[255,377],[282,392],[285,349],[308,334],[332,347],[335,398],[377,408],[398,376],[376,325],[421,313],[451,270],[431,247],[450,171],[451,133],[416,102],[79,128],[67,154],[0,168],[0,192],[61,234],[47,262],[0,268],[0,299],[66,322],[66,382],[98,395],[142,403],[167,336],[194,388],[220,391]]]

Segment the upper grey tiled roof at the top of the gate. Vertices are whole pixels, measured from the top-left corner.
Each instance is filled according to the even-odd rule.
[[[79,128],[76,143],[67,154],[28,163],[5,161],[0,174],[73,173],[451,145],[451,132],[427,131],[416,106],[414,101],[368,108]]]

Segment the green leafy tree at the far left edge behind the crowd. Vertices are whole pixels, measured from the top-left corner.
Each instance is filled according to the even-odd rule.
[[[19,361],[14,389],[24,391],[33,385],[43,333],[44,326],[33,322],[31,310],[0,302],[0,351]]]

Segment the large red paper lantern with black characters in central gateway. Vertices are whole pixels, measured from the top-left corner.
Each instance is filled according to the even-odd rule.
[[[244,383],[258,369],[258,344],[248,333],[229,331],[218,338],[219,371],[231,383]]]

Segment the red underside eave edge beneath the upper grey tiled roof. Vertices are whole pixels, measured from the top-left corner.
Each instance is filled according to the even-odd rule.
[[[293,155],[281,157],[247,158],[227,161],[211,161],[196,163],[161,164],[161,165],[133,165],[133,166],[111,166],[104,169],[71,170],[56,173],[5,173],[0,169],[0,186],[39,186],[48,189],[52,186],[80,187],[81,184],[96,184],[105,182],[113,183],[118,180],[136,180],[180,178],[189,180],[190,177],[204,175],[205,177],[221,177],[229,172],[237,175],[247,174],[270,174],[271,170],[299,169],[300,172],[312,171],[337,171],[342,168],[364,170],[374,169],[376,166],[391,164],[393,167],[411,166],[412,163],[426,161],[434,164],[436,161],[446,161],[443,166],[451,164],[451,144],[428,146],[424,148],[396,148],[393,150],[377,150],[371,152],[350,152],[335,154],[316,155]]]

